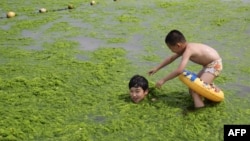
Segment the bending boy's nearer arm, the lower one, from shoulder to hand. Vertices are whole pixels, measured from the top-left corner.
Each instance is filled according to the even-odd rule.
[[[161,85],[163,85],[166,81],[168,80],[171,80],[177,76],[179,76],[185,69],[187,63],[188,63],[188,60],[190,58],[190,55],[189,53],[184,53],[183,56],[182,56],[182,59],[181,59],[181,63],[180,65],[178,66],[178,68],[176,70],[174,70],[173,72],[171,72],[169,75],[167,75],[166,77],[162,78],[161,80],[159,80],[157,83],[156,83],[156,87],[161,87]]]

